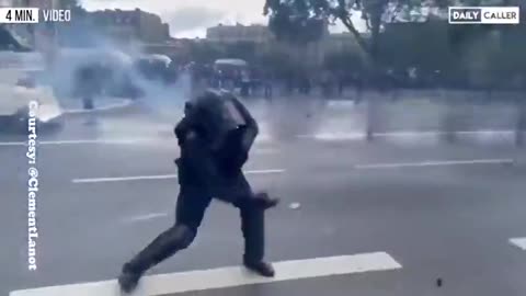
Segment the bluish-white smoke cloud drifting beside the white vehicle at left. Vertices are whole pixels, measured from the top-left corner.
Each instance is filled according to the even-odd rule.
[[[136,43],[117,43],[105,36],[93,25],[77,24],[58,27],[62,46],[57,50],[46,75],[47,82],[53,84],[60,100],[78,100],[76,95],[77,71],[87,66],[103,66],[99,78],[108,87],[110,93],[95,98],[104,102],[108,96],[129,98],[130,94],[118,88],[138,88],[141,92],[140,103],[159,116],[169,116],[174,122],[174,113],[182,111],[191,88],[191,80],[182,75],[173,84],[165,84],[145,77],[136,61],[145,57],[141,46]],[[79,47],[78,45],[82,45]]]

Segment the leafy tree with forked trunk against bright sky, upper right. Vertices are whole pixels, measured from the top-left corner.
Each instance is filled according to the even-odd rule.
[[[506,0],[501,0],[506,1]],[[448,5],[480,5],[484,0],[266,0],[264,14],[278,38],[312,41],[322,36],[325,24],[342,23],[356,38],[366,54],[371,69],[378,67],[380,37],[386,26],[397,22],[423,22],[430,15],[447,15]],[[359,15],[370,38],[364,37],[354,20]],[[312,24],[322,29],[309,29]],[[459,27],[459,26],[457,26]],[[316,33],[316,34],[315,34]],[[468,32],[469,33],[469,30]],[[457,34],[453,37],[466,37]],[[382,53],[385,54],[385,53]]]

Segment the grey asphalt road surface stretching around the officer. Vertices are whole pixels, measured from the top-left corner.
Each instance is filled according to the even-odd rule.
[[[513,116],[496,115],[495,125],[474,116],[448,143],[441,119],[428,123],[432,114],[441,117],[435,112],[403,121],[382,113],[389,124],[368,143],[364,112],[350,104],[252,109],[262,136],[249,179],[283,198],[267,214],[268,260],[386,252],[401,269],[192,295],[526,293],[526,251],[508,241],[526,237],[526,151],[513,144]],[[176,118],[136,109],[88,119],[68,117],[62,130],[39,137],[35,272],[27,271],[24,138],[0,137],[0,295],[115,278],[123,262],[173,221]],[[238,214],[216,202],[194,244],[151,274],[239,265],[241,252]]]

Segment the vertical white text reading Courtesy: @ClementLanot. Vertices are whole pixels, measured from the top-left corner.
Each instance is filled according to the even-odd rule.
[[[36,271],[36,239],[38,229],[36,227],[36,196],[38,193],[38,169],[36,168],[37,130],[36,114],[38,102],[31,101],[27,114],[27,269]]]

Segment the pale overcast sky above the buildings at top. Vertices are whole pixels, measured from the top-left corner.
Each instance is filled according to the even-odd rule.
[[[80,0],[88,10],[139,8],[159,14],[174,37],[204,37],[218,23],[266,24],[265,0]],[[341,29],[335,29],[341,31]]]

